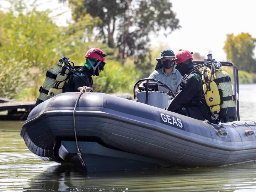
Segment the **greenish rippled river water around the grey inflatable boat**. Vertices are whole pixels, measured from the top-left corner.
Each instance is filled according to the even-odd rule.
[[[256,120],[256,84],[240,85],[241,120]],[[256,191],[256,162],[224,167],[86,174],[27,149],[20,121],[0,122],[0,191]]]

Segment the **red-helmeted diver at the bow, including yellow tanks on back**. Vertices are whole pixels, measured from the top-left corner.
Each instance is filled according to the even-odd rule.
[[[92,87],[91,76],[99,76],[104,70],[105,57],[106,54],[99,48],[87,51],[84,66],[74,66],[68,57],[61,57],[57,65],[47,70],[35,106],[63,92],[76,92],[83,86]]]

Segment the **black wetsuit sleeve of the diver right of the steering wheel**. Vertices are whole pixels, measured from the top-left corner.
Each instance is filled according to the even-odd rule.
[[[186,87],[180,91],[172,100],[168,107],[168,111],[178,111],[186,106],[198,91],[202,90],[202,84],[197,74],[191,74],[186,82]]]

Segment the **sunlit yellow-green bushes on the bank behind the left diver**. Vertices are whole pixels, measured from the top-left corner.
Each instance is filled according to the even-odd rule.
[[[94,79],[96,91],[128,91],[137,80],[132,66],[111,61],[112,48],[92,42],[91,34],[99,19],[86,14],[68,27],[58,27],[48,16],[49,11],[26,9],[22,0],[11,2],[9,11],[0,12],[0,97],[35,100],[50,66],[62,56],[83,65],[84,55],[92,47],[108,54],[105,70]]]

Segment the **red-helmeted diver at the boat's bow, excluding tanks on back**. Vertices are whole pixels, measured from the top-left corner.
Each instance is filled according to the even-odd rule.
[[[91,48],[85,54],[86,62],[79,72],[71,74],[63,86],[63,92],[76,92],[79,87],[92,87],[92,75],[104,70],[106,54],[99,48]]]

